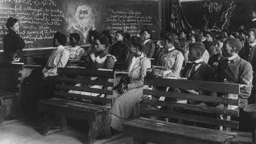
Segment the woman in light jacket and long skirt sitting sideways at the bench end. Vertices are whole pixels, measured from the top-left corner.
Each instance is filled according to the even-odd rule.
[[[150,60],[142,52],[144,45],[139,38],[132,37],[131,45],[134,47],[134,56],[129,61],[128,71],[132,72],[127,78],[121,80],[116,88],[120,96],[116,98],[110,110],[111,127],[122,132],[122,122],[130,118],[134,106],[143,96],[144,77],[151,67]]]

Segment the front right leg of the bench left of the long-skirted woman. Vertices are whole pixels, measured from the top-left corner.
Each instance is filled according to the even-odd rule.
[[[100,133],[102,133],[102,116],[103,114],[97,114],[96,120],[88,120],[89,134],[87,144],[93,144],[93,141],[100,136]]]

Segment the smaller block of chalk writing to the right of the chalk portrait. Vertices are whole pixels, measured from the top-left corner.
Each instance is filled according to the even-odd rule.
[[[138,34],[142,27],[153,26],[152,17],[140,11],[121,11],[110,9],[110,16],[105,18],[107,29],[114,36],[117,30],[129,32],[132,36]]]

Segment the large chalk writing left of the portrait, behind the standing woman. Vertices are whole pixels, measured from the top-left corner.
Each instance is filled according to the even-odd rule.
[[[40,42],[44,46],[64,22],[64,14],[55,0],[0,0],[0,44],[8,33],[5,24],[9,17],[19,20],[18,34],[27,48],[36,47]]]

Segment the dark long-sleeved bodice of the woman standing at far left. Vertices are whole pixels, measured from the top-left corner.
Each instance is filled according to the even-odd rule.
[[[4,62],[9,63],[13,60],[14,54],[17,53],[18,57],[22,57],[22,49],[25,46],[25,42],[22,38],[16,34],[14,31],[9,31],[9,33],[4,36]]]

